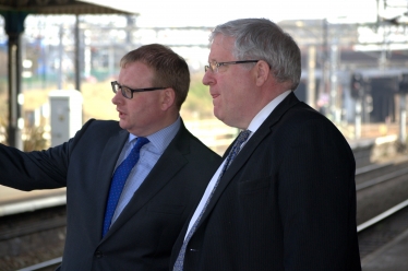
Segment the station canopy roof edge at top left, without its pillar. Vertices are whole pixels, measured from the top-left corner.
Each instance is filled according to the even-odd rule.
[[[80,0],[0,0],[0,12],[29,14],[135,14]]]

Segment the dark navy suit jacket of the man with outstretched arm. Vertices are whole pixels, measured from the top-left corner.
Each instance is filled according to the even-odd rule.
[[[171,247],[221,158],[183,125],[101,239],[115,165],[129,132],[91,120],[69,142],[22,153],[0,146],[0,182],[22,190],[67,186],[60,270],[168,270]]]

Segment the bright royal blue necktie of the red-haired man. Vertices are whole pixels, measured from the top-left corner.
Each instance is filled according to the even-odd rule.
[[[122,193],[124,184],[127,182],[130,172],[139,161],[141,148],[146,143],[148,143],[148,139],[137,138],[136,143],[134,144],[128,157],[115,170],[112,181],[110,182],[109,197],[105,211],[103,237],[109,231],[110,223],[112,221],[113,213],[116,207],[118,205],[118,201],[120,195]]]

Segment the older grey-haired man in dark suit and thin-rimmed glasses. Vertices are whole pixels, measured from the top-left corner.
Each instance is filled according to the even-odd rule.
[[[214,115],[242,132],[184,225],[170,269],[361,270],[353,154],[292,93],[299,47],[265,19],[218,25],[209,40],[203,83]]]

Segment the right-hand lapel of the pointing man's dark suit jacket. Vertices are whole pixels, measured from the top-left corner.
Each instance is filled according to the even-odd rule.
[[[106,237],[119,229],[129,219],[140,211],[170,179],[183,167],[188,161],[184,155],[190,152],[187,129],[181,123],[179,132],[167,146],[156,165],[152,168],[143,184],[133,195],[122,213],[112,224]]]

